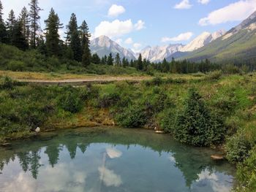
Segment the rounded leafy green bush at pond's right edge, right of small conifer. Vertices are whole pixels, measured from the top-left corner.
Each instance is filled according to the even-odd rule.
[[[236,163],[242,162],[248,157],[251,145],[243,133],[238,133],[227,139],[225,149],[227,160]]]

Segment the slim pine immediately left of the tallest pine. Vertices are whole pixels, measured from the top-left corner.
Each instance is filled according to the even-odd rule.
[[[26,9],[26,7],[23,7],[23,9],[20,12],[20,24],[21,24],[21,28],[22,28],[22,34],[23,36],[26,38],[26,41],[29,44],[29,36],[30,36],[30,31],[29,31],[29,12]]]

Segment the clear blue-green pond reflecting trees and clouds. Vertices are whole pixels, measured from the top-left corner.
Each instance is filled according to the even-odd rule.
[[[235,169],[169,135],[79,128],[0,147],[0,191],[231,191]]]

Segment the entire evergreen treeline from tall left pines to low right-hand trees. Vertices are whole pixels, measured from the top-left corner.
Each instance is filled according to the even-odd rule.
[[[23,7],[18,18],[15,17],[15,12],[10,10],[7,20],[4,21],[3,6],[0,0],[0,43],[18,47],[18,49],[23,51],[30,51],[29,53],[26,52],[21,58],[18,56],[18,60],[14,59],[13,55],[9,58],[4,55],[2,61],[0,61],[1,69],[15,71],[26,71],[27,69],[36,71],[38,69],[47,69],[46,71],[51,71],[52,69],[62,69],[70,71],[71,69],[79,68],[78,71],[83,72],[90,64],[96,64],[104,65],[104,67],[120,66],[119,69],[122,67],[133,67],[139,72],[147,74],[154,74],[154,72],[205,73],[214,70],[222,70],[225,73],[239,73],[241,71],[249,72],[255,70],[255,65],[253,64],[248,65],[242,62],[236,65],[214,64],[208,59],[197,63],[187,60],[175,61],[173,58],[172,61],[164,59],[162,62],[153,63],[146,60],[146,58],[143,59],[141,54],[135,61],[129,61],[127,58],[121,58],[118,53],[115,55],[110,53],[110,55],[99,58],[97,53],[91,55],[91,34],[86,20],[83,20],[81,25],[78,26],[76,15],[72,13],[66,26],[65,40],[62,40],[59,30],[64,28],[64,25],[61,23],[58,14],[53,8],[50,9],[48,18],[45,20],[45,28],[42,30],[39,25],[40,11],[42,9],[39,7],[39,0],[31,0],[29,9]],[[7,47],[3,46],[1,49],[7,49]],[[14,53],[14,55],[19,54],[18,52]],[[29,58],[29,62],[23,61],[24,58]],[[30,64],[32,62],[34,64]],[[46,66],[42,65],[45,63],[47,63]],[[100,68],[99,66],[97,67]],[[125,71],[126,69],[123,70]]]

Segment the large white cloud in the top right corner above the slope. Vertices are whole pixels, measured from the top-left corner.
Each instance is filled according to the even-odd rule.
[[[211,12],[199,20],[200,26],[217,25],[230,21],[240,21],[256,10],[256,0],[241,0]]]

